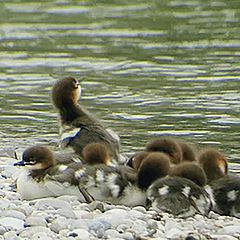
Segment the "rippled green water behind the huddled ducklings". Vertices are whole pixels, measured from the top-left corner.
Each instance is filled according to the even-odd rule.
[[[123,152],[172,135],[240,161],[240,1],[0,5],[0,148],[57,149],[50,90],[71,75]]]

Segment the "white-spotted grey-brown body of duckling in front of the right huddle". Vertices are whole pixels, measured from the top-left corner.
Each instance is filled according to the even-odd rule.
[[[196,213],[206,215],[212,204],[204,188],[178,176],[154,181],[147,190],[147,199],[154,210],[184,218]]]

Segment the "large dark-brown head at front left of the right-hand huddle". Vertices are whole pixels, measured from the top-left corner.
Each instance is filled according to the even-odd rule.
[[[167,176],[169,169],[168,155],[161,152],[149,153],[139,168],[138,186],[141,189],[148,188],[154,180]]]

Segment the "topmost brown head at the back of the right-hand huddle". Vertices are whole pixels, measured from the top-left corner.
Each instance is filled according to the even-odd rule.
[[[146,147],[147,152],[163,152],[170,157],[173,164],[182,162],[182,150],[179,144],[172,138],[156,139]]]

